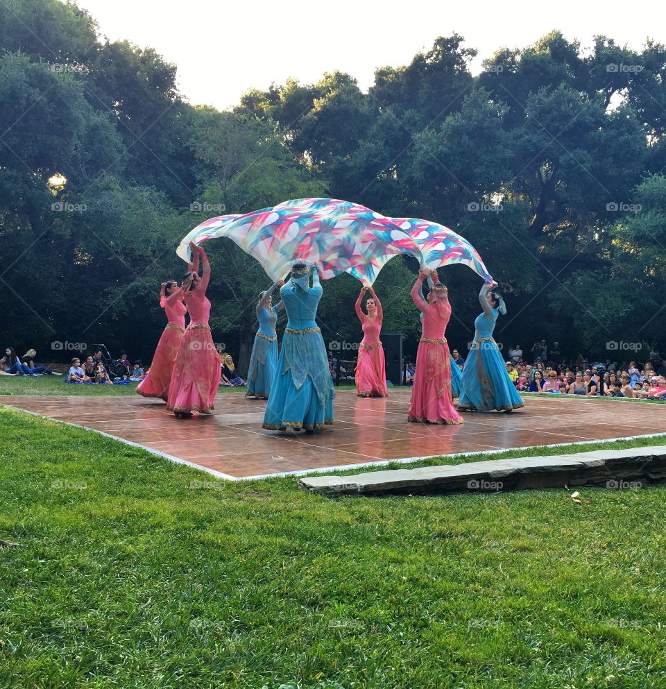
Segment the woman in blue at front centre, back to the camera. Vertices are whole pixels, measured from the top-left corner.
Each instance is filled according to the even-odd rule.
[[[280,289],[288,320],[264,428],[313,432],[333,423],[333,380],[324,339],[314,320],[321,294],[314,264],[310,268],[302,262],[293,264],[289,282]]]

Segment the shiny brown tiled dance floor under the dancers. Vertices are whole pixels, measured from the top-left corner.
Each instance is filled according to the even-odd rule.
[[[463,414],[458,426],[407,423],[407,389],[388,399],[339,391],[335,423],[316,434],[262,429],[261,400],[218,393],[213,416],[177,419],[142,397],[3,396],[3,404],[103,431],[228,478],[341,468],[387,459],[556,445],[666,432],[666,405],[527,398],[513,414]]]

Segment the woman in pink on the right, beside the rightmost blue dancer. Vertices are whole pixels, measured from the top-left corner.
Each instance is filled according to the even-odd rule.
[[[416,375],[411,391],[408,421],[417,423],[463,423],[451,396],[451,357],[444,332],[451,317],[447,289],[432,271],[434,284],[426,302],[421,284],[426,271],[419,271],[411,298],[423,314],[423,334],[416,352]]]

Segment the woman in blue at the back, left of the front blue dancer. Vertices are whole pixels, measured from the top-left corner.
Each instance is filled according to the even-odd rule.
[[[268,393],[271,392],[275,369],[278,366],[278,334],[275,332],[275,323],[278,322],[278,311],[284,308],[282,301],[273,307],[273,290],[278,285],[282,287],[283,284],[284,281],[277,280],[265,292],[259,294],[257,304],[259,330],[255,335],[255,343],[250,355],[246,398],[267,400]]]

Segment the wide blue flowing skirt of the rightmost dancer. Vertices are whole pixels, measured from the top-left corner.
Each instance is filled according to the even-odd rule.
[[[512,411],[524,407],[493,339],[475,340],[461,377],[458,409]]]

